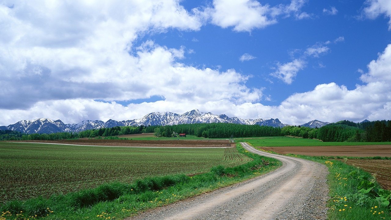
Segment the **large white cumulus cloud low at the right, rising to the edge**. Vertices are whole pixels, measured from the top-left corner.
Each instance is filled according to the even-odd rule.
[[[310,119],[335,122],[389,119],[391,114],[391,44],[368,64],[368,73],[362,74],[363,85],[349,90],[344,85],[326,83],[314,90],[297,93],[283,101],[278,109],[299,122]],[[360,72],[363,72],[362,70]]]

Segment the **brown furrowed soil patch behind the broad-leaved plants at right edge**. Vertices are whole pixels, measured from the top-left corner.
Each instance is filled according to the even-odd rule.
[[[348,159],[340,161],[371,173],[384,189],[391,189],[391,160]]]

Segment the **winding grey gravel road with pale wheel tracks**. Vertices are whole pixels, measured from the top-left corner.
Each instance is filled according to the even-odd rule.
[[[271,173],[211,193],[160,207],[133,219],[271,220],[326,219],[327,168],[315,162],[258,151],[283,166]]]

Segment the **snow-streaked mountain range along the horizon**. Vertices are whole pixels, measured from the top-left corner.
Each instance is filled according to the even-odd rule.
[[[127,121],[115,121],[109,119],[103,121],[82,121],[77,124],[65,124],[61,120],[52,120],[40,118],[36,120],[23,120],[9,126],[0,126],[0,130],[15,130],[22,133],[56,133],[56,132],[81,132],[84,130],[111,128],[115,126],[151,126],[151,125],[174,125],[174,124],[195,124],[195,123],[233,123],[233,124],[258,124],[260,126],[284,127],[278,119],[240,119],[237,117],[228,117],[225,114],[215,115],[210,112],[201,113],[199,110],[191,110],[185,114],[176,114],[172,112],[152,112],[140,119]],[[303,124],[311,128],[320,128],[329,124],[328,122],[310,121]]]

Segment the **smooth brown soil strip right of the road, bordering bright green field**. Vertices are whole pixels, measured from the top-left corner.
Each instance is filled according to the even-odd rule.
[[[308,156],[391,157],[391,145],[260,147],[279,154]]]

